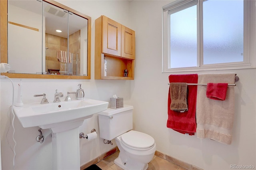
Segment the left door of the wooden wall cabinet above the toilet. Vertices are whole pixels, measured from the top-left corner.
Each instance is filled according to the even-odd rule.
[[[121,24],[102,16],[102,53],[121,56]]]

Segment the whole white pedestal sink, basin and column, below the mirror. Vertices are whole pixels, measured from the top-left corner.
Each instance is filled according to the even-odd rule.
[[[84,119],[106,110],[108,102],[92,99],[33,103],[13,107],[23,127],[52,130],[53,169],[80,170],[79,127]]]

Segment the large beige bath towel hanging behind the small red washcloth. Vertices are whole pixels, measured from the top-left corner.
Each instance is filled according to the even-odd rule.
[[[198,74],[198,83],[234,84],[234,81],[235,73]],[[231,144],[235,107],[234,86],[228,86],[225,101],[207,98],[206,88],[204,85],[197,87],[196,136]]]

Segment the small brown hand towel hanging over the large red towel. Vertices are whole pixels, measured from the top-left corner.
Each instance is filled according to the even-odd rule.
[[[170,97],[172,111],[188,111],[187,102],[187,87],[188,83],[170,83]]]

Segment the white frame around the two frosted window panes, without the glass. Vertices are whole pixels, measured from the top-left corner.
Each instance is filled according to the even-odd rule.
[[[197,5],[202,6],[203,0],[176,0],[162,7],[162,72],[205,71],[226,69],[249,69],[256,66],[256,4],[244,0],[244,61],[233,63],[203,64],[202,52],[202,8],[197,8],[197,67],[170,68],[170,14]]]

